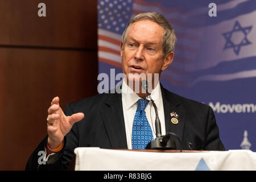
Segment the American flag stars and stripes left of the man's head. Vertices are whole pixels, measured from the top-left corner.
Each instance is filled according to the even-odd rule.
[[[120,41],[133,1],[98,0],[98,60],[121,68]]]

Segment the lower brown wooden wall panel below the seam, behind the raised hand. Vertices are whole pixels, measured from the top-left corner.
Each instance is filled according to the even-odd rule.
[[[0,169],[24,169],[47,134],[52,98],[59,96],[64,109],[96,94],[97,52],[0,48],[0,65]]]

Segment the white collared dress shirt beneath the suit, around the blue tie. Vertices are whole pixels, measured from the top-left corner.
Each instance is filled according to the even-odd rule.
[[[163,109],[163,98],[160,89],[160,84],[155,86],[152,90],[151,95],[155,105],[158,109],[158,117],[161,123],[162,135],[166,134],[166,125],[164,122],[164,109]],[[133,120],[137,110],[137,101],[141,99],[127,84],[124,80],[122,83],[122,105],[123,105],[123,118],[125,119],[125,131],[128,149],[132,149],[131,146],[131,135],[133,133]],[[148,99],[149,100],[149,99]],[[145,108],[147,121],[150,124],[153,137],[156,138],[155,134],[155,109],[152,102],[148,102]],[[151,114],[150,114],[151,113]]]

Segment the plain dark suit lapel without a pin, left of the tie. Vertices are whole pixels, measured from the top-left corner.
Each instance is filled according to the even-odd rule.
[[[102,119],[112,148],[127,148],[122,94],[112,93],[105,102]]]

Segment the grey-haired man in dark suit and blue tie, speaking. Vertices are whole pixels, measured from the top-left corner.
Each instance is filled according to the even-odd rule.
[[[160,75],[171,64],[175,42],[174,29],[162,15],[144,13],[131,19],[121,42],[122,93],[85,98],[68,104],[64,112],[59,97],[53,98],[48,109],[48,135],[31,155],[26,169],[67,169],[76,147],[143,149],[156,137],[152,103],[146,100],[141,86],[135,92],[134,85],[141,82],[143,74],[152,88],[163,134],[175,133],[183,150],[225,150],[209,106],[171,93],[160,85],[158,77],[148,77]],[[39,151],[47,153],[44,165],[39,163]]]

